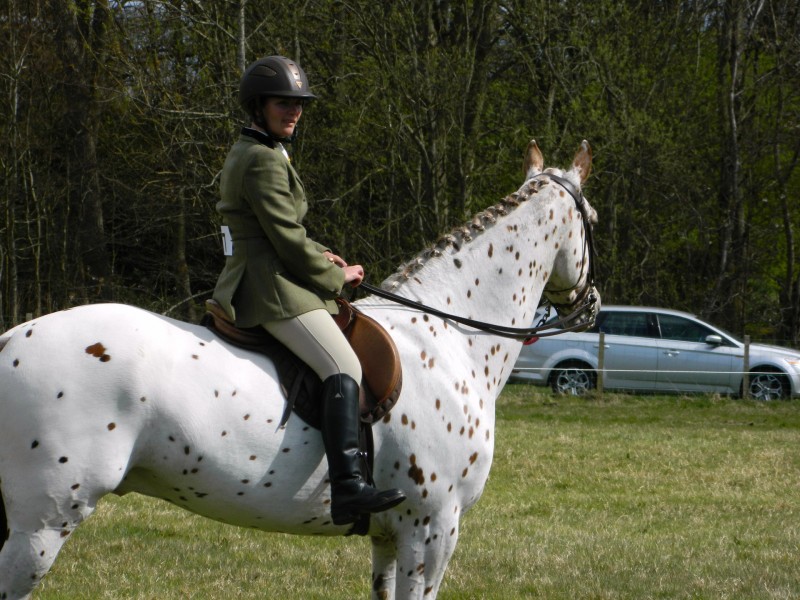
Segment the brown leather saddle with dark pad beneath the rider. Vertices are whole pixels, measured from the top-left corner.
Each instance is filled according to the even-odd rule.
[[[400,397],[403,379],[400,355],[394,340],[377,321],[343,298],[336,302],[339,305],[339,314],[334,320],[361,361],[361,421],[372,424],[392,410]],[[286,397],[281,426],[295,412],[312,427],[320,428],[322,381],[308,365],[262,327],[236,327],[214,300],[206,300],[206,314],[200,323],[226,342],[260,352],[272,360]]]

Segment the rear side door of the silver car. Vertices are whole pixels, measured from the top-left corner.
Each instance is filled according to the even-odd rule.
[[[599,332],[604,334],[603,385],[613,389],[652,390],[658,368],[657,330],[645,311],[608,311]],[[599,339],[592,350],[599,349]]]

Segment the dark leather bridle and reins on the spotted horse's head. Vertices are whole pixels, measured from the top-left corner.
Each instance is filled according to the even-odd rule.
[[[456,323],[461,323],[462,325],[466,325],[468,327],[472,327],[473,329],[477,329],[479,331],[484,331],[486,333],[492,333],[494,335],[499,335],[502,337],[507,337],[516,340],[526,341],[533,337],[549,337],[553,335],[558,335],[560,333],[565,333],[567,331],[583,331],[588,329],[592,325],[594,325],[595,317],[597,316],[597,294],[594,292],[594,273],[595,273],[595,259],[596,254],[594,250],[594,238],[592,237],[592,224],[589,222],[589,214],[586,208],[586,198],[583,194],[575,188],[574,185],[567,179],[560,177],[558,175],[553,175],[551,173],[539,173],[534,175],[531,179],[538,179],[540,177],[549,177],[551,180],[558,183],[561,187],[563,187],[567,193],[572,196],[573,201],[575,202],[575,206],[578,209],[578,212],[581,214],[581,219],[583,220],[583,228],[584,228],[584,252],[583,255],[586,256],[587,251],[589,255],[588,259],[588,273],[586,273],[586,277],[584,277],[584,269],[581,268],[581,272],[578,275],[578,281],[575,283],[574,286],[563,289],[563,290],[548,290],[547,286],[545,286],[544,291],[548,294],[562,294],[562,293],[571,293],[574,290],[578,290],[577,298],[571,304],[555,304],[550,302],[552,306],[555,307],[556,311],[558,312],[559,316],[561,315],[562,310],[571,310],[571,312],[565,316],[559,318],[557,321],[547,323],[545,326],[544,322],[547,320],[547,316],[549,315],[549,306],[547,309],[547,313],[545,317],[542,318],[539,323],[537,323],[534,327],[506,327],[505,325],[494,325],[492,323],[485,323],[483,321],[476,321],[475,319],[468,319],[466,317],[460,317],[458,315],[453,315],[450,313],[446,313],[444,311],[438,310],[436,308],[432,308],[430,306],[426,306],[421,302],[417,302],[416,300],[410,300],[408,298],[404,298],[403,296],[398,296],[392,292],[387,292],[379,287],[374,285],[370,285],[369,283],[362,282],[359,286],[360,289],[364,291],[374,294],[375,296],[379,296],[381,298],[385,298],[387,300],[391,300],[397,304],[401,304],[403,306],[407,306],[409,308],[413,308],[415,310],[419,310],[421,312],[428,313],[435,317],[440,317],[442,319],[448,319],[450,321],[455,321]],[[581,286],[580,281],[583,279],[583,285]],[[576,307],[577,304],[577,307]]]

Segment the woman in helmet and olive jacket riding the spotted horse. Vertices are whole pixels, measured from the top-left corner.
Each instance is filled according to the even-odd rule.
[[[217,210],[230,228],[233,253],[214,299],[239,327],[260,325],[322,380],[331,516],[344,525],[392,508],[405,495],[379,491],[361,473],[361,365],[331,316],[342,287],[360,284],[364,270],[306,235],[303,184],[283,146],[294,139],[305,103],[315,97],[300,65],[288,58],[269,56],[245,70],[239,102],[251,123],[222,169]]]

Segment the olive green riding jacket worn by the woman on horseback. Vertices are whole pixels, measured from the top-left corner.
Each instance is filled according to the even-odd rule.
[[[247,131],[222,169],[217,211],[231,230],[233,255],[225,261],[214,299],[239,327],[319,308],[336,314],[344,270],[306,235],[303,184],[279,145]]]

